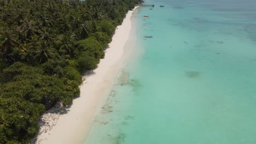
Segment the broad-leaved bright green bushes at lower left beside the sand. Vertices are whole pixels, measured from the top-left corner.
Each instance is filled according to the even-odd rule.
[[[79,95],[81,75],[72,67],[63,69],[66,81],[56,76],[45,75],[40,67],[16,62],[1,73],[5,76],[0,89],[1,122],[10,122],[8,139],[32,138],[37,134],[40,114],[50,109],[57,101],[64,105]],[[8,81],[8,82],[7,82]],[[14,91],[15,89],[15,91]],[[1,124],[0,122],[0,124]],[[16,138],[14,138],[16,137]]]

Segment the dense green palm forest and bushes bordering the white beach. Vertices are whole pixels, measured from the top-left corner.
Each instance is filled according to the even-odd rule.
[[[0,0],[0,143],[28,143],[57,101],[79,95],[139,0]]]

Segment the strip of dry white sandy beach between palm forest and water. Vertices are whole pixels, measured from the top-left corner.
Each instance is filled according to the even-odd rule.
[[[83,141],[96,111],[106,101],[124,61],[124,46],[131,32],[133,11],[127,13],[122,25],[116,29],[98,68],[89,77],[83,77],[86,80],[80,86],[80,97],[74,99],[73,104],[65,110],[52,109],[43,115],[42,122],[45,124],[40,125],[39,135],[34,143],[65,144]]]

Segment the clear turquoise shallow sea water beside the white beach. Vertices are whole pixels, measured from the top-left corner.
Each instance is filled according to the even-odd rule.
[[[256,143],[256,1],[146,3],[133,18],[143,52],[83,143]]]

